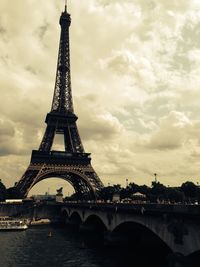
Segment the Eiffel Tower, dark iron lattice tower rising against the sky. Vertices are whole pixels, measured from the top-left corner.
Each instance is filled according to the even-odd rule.
[[[38,150],[32,151],[30,165],[15,184],[20,197],[26,197],[38,182],[57,177],[68,181],[79,199],[94,199],[103,184],[92,168],[89,153],[85,153],[74,114],[70,78],[70,14],[65,10],[60,16],[60,44],[57,72],[51,111],[46,116],[46,131]],[[64,151],[52,150],[54,137],[64,137]]]

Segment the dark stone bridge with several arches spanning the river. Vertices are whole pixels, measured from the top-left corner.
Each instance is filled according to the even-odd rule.
[[[120,233],[136,242],[143,239],[150,246],[157,240],[180,261],[200,254],[199,205],[69,202],[61,212],[66,223],[96,229],[108,239]]]

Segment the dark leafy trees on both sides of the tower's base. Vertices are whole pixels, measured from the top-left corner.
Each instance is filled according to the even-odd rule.
[[[122,187],[120,184],[109,185],[103,187],[99,191],[98,199],[112,201],[114,194],[118,194],[121,200],[132,199],[133,194],[137,192],[144,194],[146,200],[149,202],[168,201],[170,203],[200,203],[200,186],[195,185],[191,181],[184,182],[179,187],[165,186],[157,181],[152,182],[151,186],[137,185],[135,183],[129,183],[126,187]],[[0,201],[9,198],[19,198],[19,195],[13,191],[13,188],[6,189],[5,185],[0,180]]]

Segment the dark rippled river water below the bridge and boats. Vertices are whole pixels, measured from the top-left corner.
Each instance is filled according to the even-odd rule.
[[[49,233],[51,237],[48,237]],[[155,252],[155,256],[156,256]],[[143,256],[142,256],[143,255]],[[152,260],[152,259],[151,259]],[[127,248],[88,247],[66,228],[35,226],[26,231],[0,232],[1,267],[163,267]]]

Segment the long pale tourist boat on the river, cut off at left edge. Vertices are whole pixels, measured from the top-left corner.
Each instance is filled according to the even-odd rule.
[[[25,220],[0,217],[0,231],[26,230],[28,225]]]

